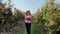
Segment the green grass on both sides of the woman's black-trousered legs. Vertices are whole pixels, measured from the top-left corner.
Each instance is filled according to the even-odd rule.
[[[27,34],[26,33],[26,28],[25,26],[24,27],[21,27],[18,32],[18,34]],[[32,22],[31,24],[31,34],[44,34],[43,33],[43,29],[40,28],[40,26],[38,26],[37,23],[35,22]]]

